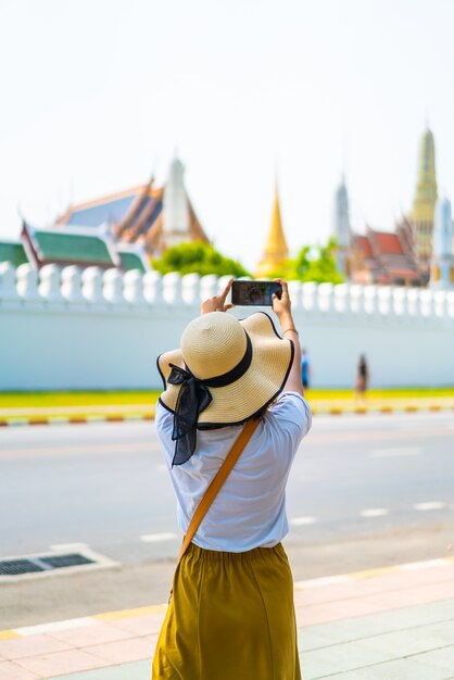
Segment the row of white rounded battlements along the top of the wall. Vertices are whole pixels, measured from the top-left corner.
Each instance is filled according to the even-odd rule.
[[[111,311],[125,303],[129,307],[149,305],[198,306],[200,302],[224,290],[231,277],[187,274],[181,277],[172,272],[161,276],[155,270],[142,275],[134,269],[122,274],[112,268],[80,269],[46,265],[39,272],[30,264],[16,269],[10,263],[0,264],[0,299],[29,302],[58,302],[67,304],[89,302]],[[401,320],[425,317],[427,319],[454,316],[454,291],[375,286],[358,284],[315,284],[289,281],[293,310],[316,314],[353,314],[396,317]]]

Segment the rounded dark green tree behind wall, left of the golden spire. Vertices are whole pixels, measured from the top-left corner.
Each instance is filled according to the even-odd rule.
[[[185,274],[249,276],[239,262],[224,257],[213,245],[203,241],[173,245],[163,253],[160,260],[153,260],[152,266],[161,274],[179,272],[181,276]]]

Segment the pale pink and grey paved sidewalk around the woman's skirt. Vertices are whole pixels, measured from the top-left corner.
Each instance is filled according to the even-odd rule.
[[[297,582],[294,600],[303,680],[454,680],[454,558]],[[149,680],[164,613],[0,631],[0,678]]]

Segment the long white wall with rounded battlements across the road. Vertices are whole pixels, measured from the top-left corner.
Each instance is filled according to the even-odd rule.
[[[161,387],[214,276],[0,264],[0,390]],[[314,387],[351,387],[360,353],[375,386],[454,385],[454,292],[290,284]],[[237,308],[239,317],[251,308]]]

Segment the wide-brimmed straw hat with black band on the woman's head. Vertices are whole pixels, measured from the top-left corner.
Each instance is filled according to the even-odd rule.
[[[187,326],[181,349],[159,356],[164,382],[160,401],[175,414],[181,390],[175,382],[190,376],[207,388],[197,429],[240,424],[282,391],[292,361],[293,343],[280,338],[264,312],[240,322],[222,312],[203,314]]]

